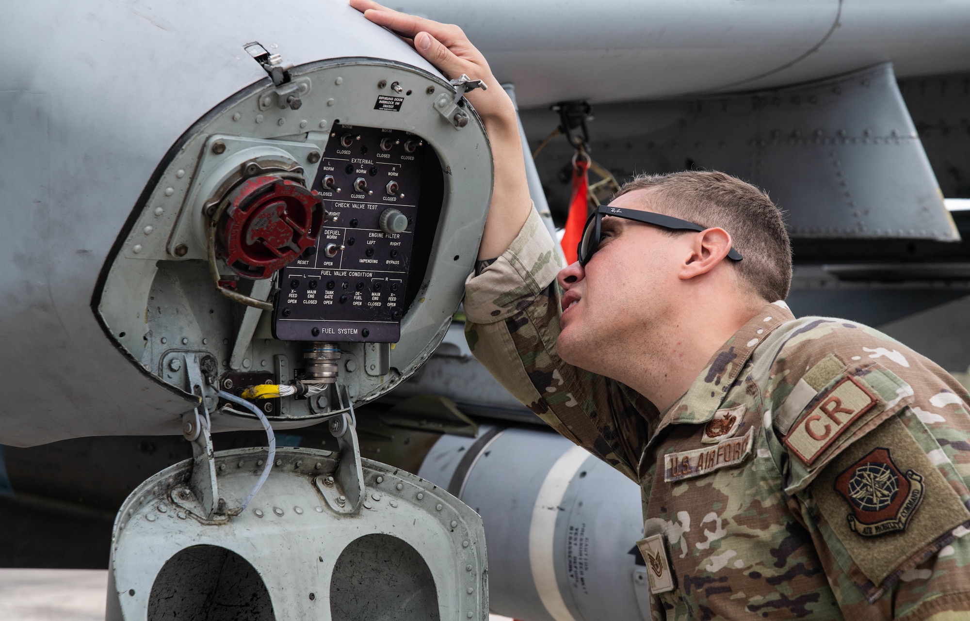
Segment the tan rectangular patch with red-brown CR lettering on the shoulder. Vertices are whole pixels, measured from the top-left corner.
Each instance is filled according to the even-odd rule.
[[[846,376],[792,426],[785,436],[785,445],[806,466],[811,466],[859,416],[878,403],[879,399],[856,377]]]

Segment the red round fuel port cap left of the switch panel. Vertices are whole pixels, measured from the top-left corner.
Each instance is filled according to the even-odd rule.
[[[226,263],[245,278],[270,278],[316,245],[323,205],[296,181],[253,177],[233,190],[218,231]]]

